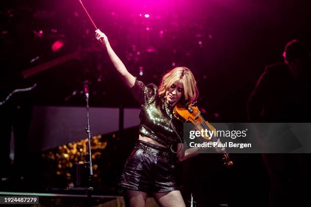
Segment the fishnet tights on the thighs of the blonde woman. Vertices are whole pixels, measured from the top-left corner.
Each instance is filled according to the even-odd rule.
[[[126,190],[124,199],[127,207],[144,207],[147,194],[137,190]],[[161,207],[185,207],[179,190],[153,193],[153,198]]]

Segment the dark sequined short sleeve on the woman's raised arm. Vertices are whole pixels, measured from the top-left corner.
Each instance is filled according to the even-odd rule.
[[[134,86],[130,88],[130,91],[139,102],[140,105],[150,103],[154,100],[155,95],[158,93],[158,87],[154,84],[145,84],[135,77]]]

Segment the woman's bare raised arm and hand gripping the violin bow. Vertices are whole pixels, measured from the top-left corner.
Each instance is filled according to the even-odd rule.
[[[101,44],[107,49],[108,55],[116,68],[116,70],[119,72],[121,78],[125,82],[125,84],[128,87],[133,87],[135,83],[135,77],[129,73],[126,66],[123,64],[123,62],[120,60],[120,58],[115,54],[115,52],[112,50],[107,36],[99,29],[96,31],[96,39],[101,42]]]

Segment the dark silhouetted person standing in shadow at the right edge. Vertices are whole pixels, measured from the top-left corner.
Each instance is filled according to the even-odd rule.
[[[299,40],[289,42],[284,63],[268,65],[248,100],[250,122],[311,122],[310,61]],[[308,154],[262,154],[271,179],[271,206],[306,203]]]

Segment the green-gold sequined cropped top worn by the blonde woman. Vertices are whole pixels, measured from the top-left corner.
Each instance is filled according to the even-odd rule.
[[[165,147],[180,143],[183,123],[173,116],[173,108],[159,95],[158,87],[154,84],[145,86],[136,78],[130,90],[141,105],[139,133]]]

